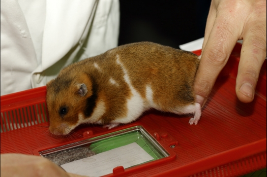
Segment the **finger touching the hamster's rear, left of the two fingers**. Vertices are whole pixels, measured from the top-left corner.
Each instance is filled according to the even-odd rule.
[[[218,75],[227,63],[242,32],[244,22],[242,23],[241,18],[238,17],[241,13],[229,13],[229,11],[238,11],[237,8],[234,5],[218,7],[217,17],[202,51],[195,78],[196,102],[201,107],[210,95]]]

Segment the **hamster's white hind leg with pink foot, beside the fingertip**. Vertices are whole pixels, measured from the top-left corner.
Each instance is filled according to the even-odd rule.
[[[199,103],[189,104],[182,108],[177,108],[177,111],[174,111],[176,114],[190,114],[194,113],[194,117],[189,120],[189,124],[195,125],[198,123],[200,116],[201,116],[201,106]]]

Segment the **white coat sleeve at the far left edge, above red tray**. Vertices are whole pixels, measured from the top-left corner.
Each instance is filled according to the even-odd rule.
[[[1,1],[1,95],[31,88],[36,53],[23,12],[15,0]]]

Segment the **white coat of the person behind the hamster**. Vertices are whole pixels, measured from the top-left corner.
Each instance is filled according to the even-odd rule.
[[[1,95],[117,46],[118,0],[1,0]]]

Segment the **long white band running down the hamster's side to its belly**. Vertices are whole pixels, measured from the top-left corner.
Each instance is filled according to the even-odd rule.
[[[132,86],[128,72],[125,69],[123,63],[120,61],[120,57],[118,56],[118,54],[116,55],[116,57],[117,57],[116,59],[117,64],[119,64],[123,69],[124,80],[129,85],[132,96],[130,99],[127,100],[127,110],[128,110],[127,116],[124,118],[119,118],[114,121],[111,121],[111,124],[129,123],[137,119],[144,111],[144,100],[142,99],[141,95]]]

